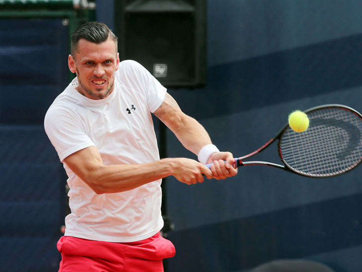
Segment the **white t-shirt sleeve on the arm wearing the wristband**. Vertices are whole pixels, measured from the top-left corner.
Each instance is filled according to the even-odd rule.
[[[120,63],[118,74],[122,82],[138,87],[138,91],[146,97],[150,112],[155,112],[165,99],[167,89],[141,64],[133,60]]]

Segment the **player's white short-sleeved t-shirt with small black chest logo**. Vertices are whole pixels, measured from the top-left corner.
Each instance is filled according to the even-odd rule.
[[[151,113],[166,95],[143,66],[122,61],[114,90],[92,100],[75,89],[77,78],[54,100],[44,121],[45,131],[60,160],[96,146],[103,163],[136,164],[160,159]],[[161,180],[121,193],[96,194],[65,163],[71,214],[66,236],[107,242],[134,242],[161,230]]]

